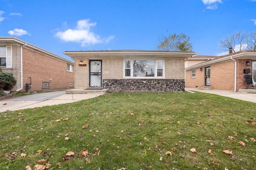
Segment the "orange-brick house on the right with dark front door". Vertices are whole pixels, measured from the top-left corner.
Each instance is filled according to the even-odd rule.
[[[185,70],[187,88],[208,87],[214,90],[234,91],[246,89],[244,75],[252,75],[252,80],[256,83],[256,51],[242,50],[229,53],[188,66]]]

